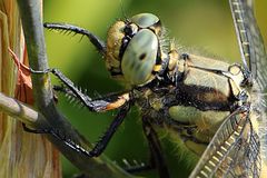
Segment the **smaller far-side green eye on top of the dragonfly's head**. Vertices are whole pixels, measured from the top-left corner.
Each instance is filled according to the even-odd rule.
[[[134,16],[130,21],[140,28],[148,28],[157,23],[159,21],[159,18],[152,13],[139,13]]]

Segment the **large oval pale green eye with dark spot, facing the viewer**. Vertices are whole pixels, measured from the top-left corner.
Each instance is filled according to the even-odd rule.
[[[148,29],[140,30],[129,42],[121,70],[131,85],[145,85],[151,77],[158,51],[158,39]]]

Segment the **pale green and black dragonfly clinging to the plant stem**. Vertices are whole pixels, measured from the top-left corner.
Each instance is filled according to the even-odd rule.
[[[151,161],[127,171],[156,168],[159,177],[170,177],[159,139],[164,134],[179,145],[178,154],[190,157],[191,178],[267,176],[267,57],[253,1],[229,0],[229,6],[240,65],[182,51],[151,13],[118,20],[108,30],[107,42],[80,27],[44,23],[47,29],[86,36],[111,77],[127,86],[125,91],[92,99],[58,69],[46,70],[63,83],[55,90],[75,97],[90,111],[118,110],[92,150],[60,138],[57,130],[50,134],[77,152],[97,157],[136,105]]]

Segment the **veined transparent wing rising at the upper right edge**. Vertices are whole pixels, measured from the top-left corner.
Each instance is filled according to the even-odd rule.
[[[267,56],[254,17],[253,0],[229,0],[244,67],[251,71],[260,91],[267,89]]]

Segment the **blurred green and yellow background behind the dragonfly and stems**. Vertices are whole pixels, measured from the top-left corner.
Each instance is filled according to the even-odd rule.
[[[265,41],[267,41],[266,9],[266,0],[256,0],[257,20]],[[105,40],[108,28],[116,20],[123,19],[125,14],[131,17],[140,12],[157,14],[167,27],[168,36],[176,38],[181,46],[208,51],[228,61],[239,59],[227,0],[46,0],[43,16],[46,22],[77,24]],[[103,59],[86,38],[80,41],[79,36],[46,31],[46,40],[50,67],[59,68],[75,83],[87,89],[91,97],[123,90],[119,83],[110,79]],[[91,142],[98,140],[116,113],[115,111],[90,113],[69,103],[62,96],[59,97],[60,110]],[[139,118],[137,109],[134,108],[105,151],[110,159],[119,164],[122,158],[147,162],[148,147],[144,140]],[[187,166],[177,158],[175,149],[170,148],[168,151],[168,160],[174,162],[170,168],[174,174],[179,177],[188,174]],[[178,161],[177,166],[175,162]],[[79,170],[63,158],[63,177],[71,177],[76,172]]]

